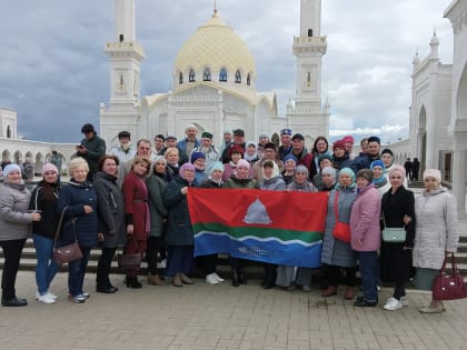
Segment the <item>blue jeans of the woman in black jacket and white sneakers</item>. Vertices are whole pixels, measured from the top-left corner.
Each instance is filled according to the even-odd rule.
[[[38,284],[39,294],[42,296],[49,290],[50,283],[60,267],[53,259],[53,240],[36,233],[32,233],[32,239],[38,259],[36,266],[36,283]]]

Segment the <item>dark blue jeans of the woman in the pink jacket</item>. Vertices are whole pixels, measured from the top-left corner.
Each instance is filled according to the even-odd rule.
[[[378,252],[357,251],[357,258],[361,276],[361,287],[364,288],[364,300],[378,302],[378,289],[376,287],[378,279]]]

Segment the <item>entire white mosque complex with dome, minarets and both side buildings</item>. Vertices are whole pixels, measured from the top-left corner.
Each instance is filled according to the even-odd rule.
[[[173,63],[173,83],[168,92],[140,97],[140,62],[145,58],[136,40],[135,0],[115,0],[115,42],[106,46],[110,58],[110,101],[100,106],[100,136],[108,147],[117,133],[129,130],[135,139],[157,133],[183,137],[187,124],[215,134],[244,128],[248,140],[260,132],[274,133],[288,127],[314,139],[328,134],[329,106],[321,101],[321,61],[326,37],[320,33],[321,1],[301,0],[300,34],[294,38],[297,59],[296,98],[286,116],[277,116],[276,93],[256,90],[255,59],[247,44],[219,13],[201,24],[181,46]],[[391,143],[396,159],[418,157],[421,170],[438,168],[453,188],[465,214],[467,173],[467,0],[453,0],[445,10],[453,24],[453,63],[441,63],[436,33],[426,58],[413,62],[410,136]],[[208,17],[208,16],[207,16]],[[0,108],[2,160],[20,163],[29,157],[36,171],[52,150],[67,161],[73,144],[22,140],[17,131],[16,111]]]

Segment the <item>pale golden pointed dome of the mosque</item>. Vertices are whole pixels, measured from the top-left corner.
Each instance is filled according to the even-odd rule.
[[[196,81],[202,81],[203,70],[211,72],[211,81],[219,81],[219,71],[227,70],[228,81],[235,81],[237,70],[241,73],[241,84],[250,74],[251,86],[256,78],[255,60],[247,44],[215,11],[205,24],[183,43],[175,61],[173,79],[179,86],[179,74],[189,81],[189,71],[196,73]]]

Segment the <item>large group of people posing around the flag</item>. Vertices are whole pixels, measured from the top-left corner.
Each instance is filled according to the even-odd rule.
[[[406,283],[414,278],[417,287],[430,289],[445,253],[457,249],[455,199],[441,186],[439,170],[425,170],[425,190],[415,198],[407,189],[407,167],[394,162],[390,149],[381,150],[378,137],[362,139],[361,152],[354,154],[350,136],[331,147],[326,137],[317,137],[308,150],[304,136],[292,134],[290,129],[280,131],[280,144],[271,142],[267,133],[246,142],[245,131],[236,129],[226,130],[217,148],[210,132],[202,132],[198,139],[196,126],[190,124],[186,138],[177,142],[173,136],[157,134],[153,147],[150,140],[140,139],[133,148],[130,133],[121,131],[120,144],[106,154],[105,141],[92,124],[85,124],[81,131],[85,138],[68,164],[68,184],[60,182],[60,171],[53,163],[46,163],[43,179],[31,193],[19,166],[3,169],[0,247],[6,257],[1,281],[4,307],[27,304],[17,296],[14,280],[31,231],[38,259],[36,299],[43,303],[57,300],[50,291],[59,270],[53,248],[74,241],[82,257],[68,264],[68,298],[76,303],[89,298],[83,280],[93,247],[101,248],[97,292],[118,291],[109,273],[117,248],[123,246],[125,253],[146,256],[149,284],[162,286],[166,277],[177,288],[192,284],[195,266],[202,270],[207,283],[223,282],[216,270],[217,254],[193,257],[187,202],[192,187],[327,192],[321,296],[336,296],[344,282],[344,298],[354,300],[358,268],[362,294],[356,299],[356,307],[375,307],[378,284],[391,282],[394,293],[384,309],[403,308],[408,303]],[[405,241],[382,241],[385,228],[404,228]],[[246,261],[229,261],[231,284],[247,283]],[[128,288],[142,288],[139,272],[138,267],[126,271]],[[265,263],[261,287],[300,287],[309,292],[312,272],[306,267]],[[444,310],[439,300],[420,309],[429,313]]]

